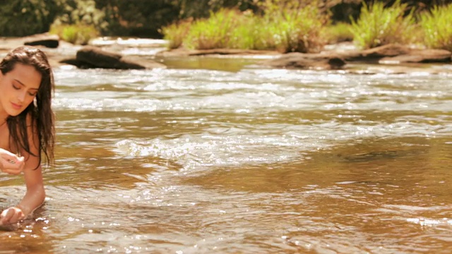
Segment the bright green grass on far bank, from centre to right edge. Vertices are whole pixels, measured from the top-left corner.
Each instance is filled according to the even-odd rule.
[[[189,49],[266,49],[280,52],[319,52],[326,43],[350,40],[361,49],[384,44],[413,44],[433,49],[452,48],[452,4],[416,12],[399,0],[391,6],[375,1],[362,4],[350,23],[333,24],[319,1],[290,5],[266,1],[262,14],[222,9],[203,18],[162,29],[170,47]],[[297,2],[299,3],[299,2]],[[174,37],[177,43],[174,43]]]

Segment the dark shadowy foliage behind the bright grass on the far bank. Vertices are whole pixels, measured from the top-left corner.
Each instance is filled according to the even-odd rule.
[[[178,20],[207,18],[210,11],[237,8],[239,11],[258,11],[266,0],[4,0],[0,8],[0,36],[25,36],[49,31],[59,23],[73,25],[84,16],[90,18],[102,35],[162,37],[160,28]],[[292,0],[298,1],[298,0]],[[307,0],[302,0],[307,1]],[[360,0],[324,0],[325,6],[340,6]],[[444,0],[445,1],[445,0]],[[93,9],[95,2],[95,9]],[[345,4],[347,5],[347,4]],[[85,6],[86,8],[79,8]],[[348,13],[349,8],[335,8]],[[83,13],[85,11],[85,13]],[[73,13],[72,13],[73,12]],[[92,13],[88,14],[88,13]],[[102,14],[103,18],[100,18]],[[90,17],[90,18],[88,18]],[[56,20],[58,19],[58,20]]]

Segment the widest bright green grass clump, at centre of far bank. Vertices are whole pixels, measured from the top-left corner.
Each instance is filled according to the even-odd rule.
[[[319,51],[324,44],[321,30],[328,16],[314,4],[280,8],[279,1],[273,1],[266,1],[262,15],[221,9],[189,26],[169,25],[162,32],[173,48],[184,45],[189,49]]]

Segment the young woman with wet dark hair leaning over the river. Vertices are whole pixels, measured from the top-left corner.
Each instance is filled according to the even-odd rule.
[[[23,173],[27,191],[15,207],[0,214],[0,224],[25,219],[45,198],[41,163],[54,157],[54,78],[47,56],[18,47],[0,62],[0,170]]]

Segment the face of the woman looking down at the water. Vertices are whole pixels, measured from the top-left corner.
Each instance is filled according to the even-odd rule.
[[[16,63],[13,70],[0,71],[0,111],[17,116],[33,102],[40,88],[42,75],[35,67]]]

